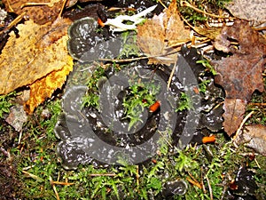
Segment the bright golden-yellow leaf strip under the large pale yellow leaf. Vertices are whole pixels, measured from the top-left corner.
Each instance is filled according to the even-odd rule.
[[[72,71],[73,60],[70,56],[66,58],[67,64],[60,70],[52,71],[49,75],[40,80],[35,81],[30,87],[29,100],[24,105],[27,113],[32,113],[34,109],[39,106],[44,100],[51,97],[51,94],[57,89],[61,88],[66,81],[66,76]]]

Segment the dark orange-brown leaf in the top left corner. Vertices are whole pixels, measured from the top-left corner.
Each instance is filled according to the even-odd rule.
[[[19,15],[26,12],[25,18],[42,25],[58,18],[64,0],[3,0],[2,2],[7,12]]]

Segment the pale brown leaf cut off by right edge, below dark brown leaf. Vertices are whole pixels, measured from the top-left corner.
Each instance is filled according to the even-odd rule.
[[[246,125],[236,138],[237,144],[245,144],[258,153],[266,156],[266,126],[261,124]]]

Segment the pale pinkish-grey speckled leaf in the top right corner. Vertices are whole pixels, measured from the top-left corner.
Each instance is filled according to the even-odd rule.
[[[233,16],[243,20],[252,20],[254,25],[266,21],[265,0],[233,0],[226,8]]]

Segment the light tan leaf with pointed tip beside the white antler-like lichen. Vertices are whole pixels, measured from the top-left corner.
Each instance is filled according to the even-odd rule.
[[[176,1],[172,1],[168,9],[153,19],[146,20],[145,24],[137,27],[137,45],[149,56],[157,56],[149,59],[148,64],[161,63],[170,65],[176,63],[178,49],[176,46],[190,40],[190,31],[184,28],[177,11]],[[160,57],[162,54],[168,56]]]

